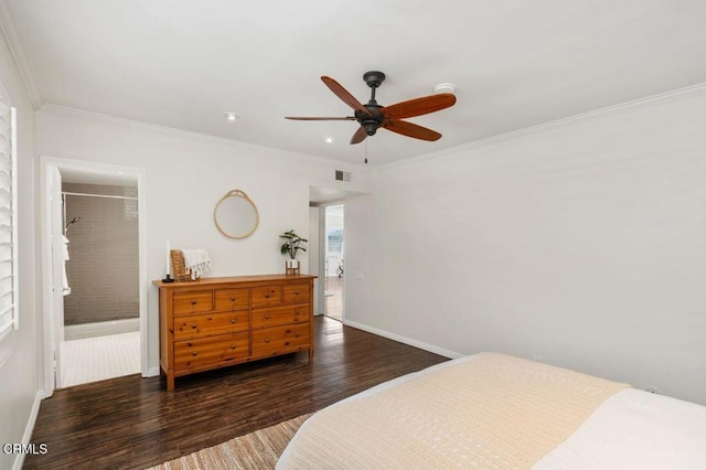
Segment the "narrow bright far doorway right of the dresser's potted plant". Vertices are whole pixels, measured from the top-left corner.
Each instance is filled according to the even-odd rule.
[[[343,321],[343,282],[345,243],[343,204],[324,207],[323,226],[323,314]]]

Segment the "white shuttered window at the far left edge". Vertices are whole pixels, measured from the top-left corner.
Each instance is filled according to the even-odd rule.
[[[0,343],[19,325],[15,121],[15,109],[0,86]]]

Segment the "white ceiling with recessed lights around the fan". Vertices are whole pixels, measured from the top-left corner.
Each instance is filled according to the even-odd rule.
[[[353,164],[706,82],[704,0],[4,2],[42,103]],[[350,116],[319,77],[366,103],[370,70],[382,105],[456,84],[454,107],[410,119],[443,137],[351,146],[355,122],[284,119]]]

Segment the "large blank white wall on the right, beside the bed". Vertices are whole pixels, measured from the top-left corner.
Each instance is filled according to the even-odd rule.
[[[347,318],[706,405],[704,129],[683,97],[375,170]]]

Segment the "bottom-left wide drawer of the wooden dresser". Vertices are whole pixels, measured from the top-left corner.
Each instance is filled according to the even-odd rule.
[[[174,370],[184,371],[248,356],[248,333],[174,342]]]

